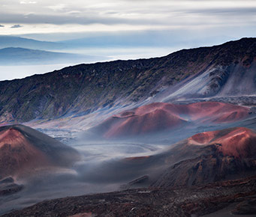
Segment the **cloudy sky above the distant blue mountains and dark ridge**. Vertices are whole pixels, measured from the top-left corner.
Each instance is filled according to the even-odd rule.
[[[113,52],[113,58],[147,58],[150,47],[155,56],[167,55],[255,32],[254,0],[0,0],[1,35],[49,41],[95,37],[106,46],[114,36],[125,38],[124,46],[134,43],[134,55],[125,56],[121,43],[122,55]],[[137,51],[140,44],[145,52]]]

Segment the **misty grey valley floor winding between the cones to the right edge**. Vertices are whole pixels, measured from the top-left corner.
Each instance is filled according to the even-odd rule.
[[[194,126],[164,132],[152,137],[125,139],[122,141],[89,140],[83,133],[75,134],[67,130],[45,130],[45,133],[60,141],[66,141],[81,153],[81,160],[72,168],[46,168],[15,183],[24,189],[14,195],[0,197],[0,214],[12,209],[21,209],[39,201],[96,192],[111,192],[124,189],[124,185],[145,175],[157,176],[162,171],[160,164],[143,164],[129,157],[151,156],[167,149],[172,144],[198,132],[224,129],[232,126],[246,126],[253,129],[255,117],[241,122],[215,126]],[[41,130],[44,132],[44,130]],[[71,138],[66,140],[65,136]]]

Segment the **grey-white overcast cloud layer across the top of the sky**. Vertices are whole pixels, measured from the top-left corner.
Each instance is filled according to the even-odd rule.
[[[0,23],[2,34],[102,31],[103,26],[105,31],[249,28],[255,12],[256,1],[246,0],[2,0]],[[9,28],[14,25],[23,29]]]

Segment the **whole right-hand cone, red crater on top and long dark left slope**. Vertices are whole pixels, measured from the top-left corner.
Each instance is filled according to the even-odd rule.
[[[88,178],[126,181],[125,188],[134,188],[192,186],[254,174],[256,133],[236,127],[202,132],[152,155],[112,160],[94,169]]]

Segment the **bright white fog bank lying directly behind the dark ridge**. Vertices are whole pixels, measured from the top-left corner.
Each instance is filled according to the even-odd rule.
[[[43,74],[52,72],[54,70],[61,70],[64,67],[74,66],[77,64],[91,64],[98,61],[114,61],[114,60],[128,60],[137,58],[152,58],[169,54],[171,51],[175,51],[175,47],[167,48],[124,48],[124,47],[105,47],[105,48],[86,48],[86,49],[67,49],[67,50],[55,50],[55,52],[67,52],[80,55],[87,55],[84,60],[78,61],[62,61],[62,63],[56,64],[31,64],[31,65],[17,65],[14,62],[13,65],[3,66],[0,65],[0,81],[11,79],[23,79],[26,76],[32,76],[34,74]],[[89,58],[90,55],[90,58]],[[64,63],[63,63],[64,62]]]

